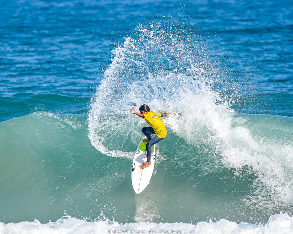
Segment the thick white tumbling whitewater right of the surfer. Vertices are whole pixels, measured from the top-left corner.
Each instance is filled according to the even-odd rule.
[[[236,124],[227,104],[216,105],[217,94],[208,89],[203,95],[186,93],[179,99],[185,109],[184,116],[168,118],[167,125],[191,144],[205,142],[212,146],[214,151],[210,153],[220,156],[224,166],[251,168],[251,172],[258,176],[258,191],[253,195],[257,203],[270,196],[269,206],[275,206],[276,202],[289,205],[293,201],[293,145],[284,140],[288,136],[283,135],[278,141],[267,137],[264,141],[263,136],[251,134],[242,123]],[[259,131],[262,117],[255,126],[260,128]],[[250,121],[249,118],[242,117],[243,122]],[[271,124],[271,128],[277,128],[283,124],[282,119]]]

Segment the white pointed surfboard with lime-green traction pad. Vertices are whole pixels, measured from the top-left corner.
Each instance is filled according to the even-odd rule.
[[[144,138],[147,138],[147,137],[144,137]],[[136,194],[141,193],[148,186],[154,171],[154,165],[155,165],[155,146],[154,145],[151,147],[151,165],[144,169],[139,167],[139,165],[144,164],[147,161],[146,144],[147,142],[143,142],[143,141],[139,143],[134,155],[133,162],[132,162],[131,180],[132,180],[132,187],[134,189],[134,192],[136,192]]]

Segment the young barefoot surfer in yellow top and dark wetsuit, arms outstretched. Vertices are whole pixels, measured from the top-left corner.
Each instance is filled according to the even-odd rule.
[[[167,135],[167,130],[165,125],[161,121],[159,117],[168,116],[171,113],[156,113],[152,112],[149,109],[149,106],[143,104],[139,107],[139,112],[135,112],[134,107],[131,107],[132,114],[136,114],[139,117],[142,117],[151,127],[142,128],[142,133],[147,137],[147,139],[143,139],[143,141],[147,142],[146,150],[147,150],[147,161],[144,164],[140,165],[140,168],[146,168],[151,165],[151,147],[158,143],[160,140],[163,140]],[[151,134],[156,134],[154,138],[151,137]]]

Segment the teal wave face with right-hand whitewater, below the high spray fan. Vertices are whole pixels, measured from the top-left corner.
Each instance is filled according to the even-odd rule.
[[[86,116],[35,112],[1,122],[2,222],[48,222],[63,213],[123,223],[159,223],[162,217],[189,223],[211,213],[217,220],[265,221],[282,207],[289,211],[293,119],[239,113],[227,118],[233,135],[226,141],[207,128],[196,130],[206,138],[185,139],[172,123],[180,119],[165,119],[168,135],[156,148],[154,175],[141,195],[130,179],[136,138],[125,134],[121,142],[109,141],[108,150],[129,154],[109,157],[91,145]]]

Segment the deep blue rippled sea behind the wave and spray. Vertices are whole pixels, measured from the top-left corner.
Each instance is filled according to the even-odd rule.
[[[293,116],[291,1],[8,1],[0,5],[0,120],[85,113],[113,48],[138,24],[201,38],[244,113]]]

